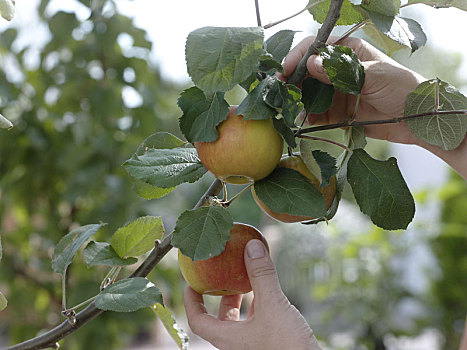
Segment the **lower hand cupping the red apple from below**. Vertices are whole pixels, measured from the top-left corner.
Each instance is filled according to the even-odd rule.
[[[191,330],[222,350],[321,350],[303,316],[282,292],[261,241],[248,242],[244,258],[254,293],[247,319],[240,321],[242,295],[223,296],[216,318],[207,313],[203,296],[187,287],[185,309]]]

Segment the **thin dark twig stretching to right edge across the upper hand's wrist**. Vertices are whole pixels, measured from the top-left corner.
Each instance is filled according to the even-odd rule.
[[[316,131],[322,131],[322,130],[332,130],[332,129],[338,129],[338,128],[345,128],[345,127],[349,127],[349,126],[394,124],[394,123],[400,123],[400,122],[402,122],[404,120],[416,119],[416,118],[420,118],[420,117],[433,116],[433,115],[446,115],[446,114],[463,114],[463,115],[467,115],[467,109],[459,109],[459,110],[454,110],[454,111],[431,111],[431,112],[412,114],[412,115],[393,118],[393,119],[367,120],[367,121],[361,121],[361,122],[349,120],[349,121],[345,121],[345,122],[342,122],[342,123],[312,126],[312,127],[309,127],[309,128],[304,128],[304,129],[301,129],[301,130],[297,130],[296,135],[302,135],[302,134],[307,134],[309,132],[316,132]]]

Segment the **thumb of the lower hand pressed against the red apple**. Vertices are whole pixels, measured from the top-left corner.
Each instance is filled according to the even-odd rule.
[[[283,297],[276,268],[260,240],[252,239],[247,243],[244,259],[256,306],[270,302],[271,298]]]

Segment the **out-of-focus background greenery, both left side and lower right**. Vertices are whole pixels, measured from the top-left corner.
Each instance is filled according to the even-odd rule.
[[[0,313],[0,346],[61,322],[50,258],[63,235],[103,221],[96,239],[107,240],[141,215],[162,216],[169,231],[211,181],[207,175],[149,202],[131,190],[121,164],[156,131],[180,136],[176,99],[184,87],[161,78],[150,58],[153,43],[113,1],[81,0],[90,13],[84,20],[48,11],[49,2],[37,9],[50,33],[39,52],[22,46],[14,28],[0,34],[0,112],[15,125],[0,131],[0,290],[9,301]],[[429,60],[398,59],[425,76],[465,84],[455,74],[458,57],[425,50]],[[371,141],[370,153],[383,159],[390,150]],[[229,210],[236,221],[272,232],[282,286],[329,349],[390,348],[394,338],[426,329],[440,335],[443,349],[456,349],[467,311],[466,182],[452,174],[442,189],[417,194],[419,207],[437,202],[440,214],[407,232],[375,228],[349,193],[344,198],[333,221],[313,227],[278,225],[249,193]],[[69,306],[95,295],[106,272],[88,270],[78,256],[67,274]],[[181,313],[184,283],[174,254],[149,278]],[[62,346],[124,348],[147,340],[153,320],[149,310],[107,312]]]

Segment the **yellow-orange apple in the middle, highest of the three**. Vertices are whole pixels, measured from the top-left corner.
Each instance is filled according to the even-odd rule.
[[[243,120],[231,106],[214,142],[195,142],[204,167],[218,179],[247,184],[268,176],[282,155],[283,140],[272,119]]]

